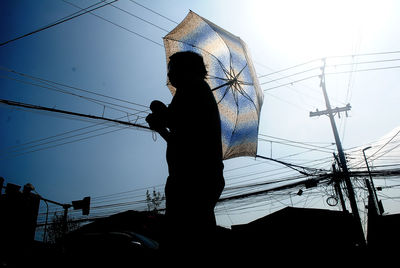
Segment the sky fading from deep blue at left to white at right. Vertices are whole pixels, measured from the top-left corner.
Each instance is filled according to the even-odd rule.
[[[73,5],[88,7],[94,3],[1,1],[0,42],[78,11]],[[363,148],[400,125],[400,91],[396,88],[400,82],[399,1],[119,0],[113,5],[94,11],[97,16],[85,14],[1,46],[0,98],[111,118],[126,116],[126,112],[104,109],[93,99],[118,103],[124,107],[113,107],[131,114],[147,109],[133,103],[148,106],[154,99],[169,103],[172,96],[166,87],[162,37],[176,26],[172,21],[180,22],[193,10],[240,36],[260,76],[299,65],[260,77],[265,90],[260,134],[268,136],[262,137],[267,141],[259,141],[259,154],[330,168],[335,148],[329,120],[325,116],[309,117],[310,111],[325,109],[318,77],[322,66],[319,59],[323,57],[328,57],[326,86],[332,106],[352,106],[349,117],[336,116],[345,149]],[[75,95],[54,91],[53,86]],[[138,116],[137,122],[143,123],[145,113]],[[0,176],[19,185],[30,182],[39,194],[58,202],[91,196],[93,206],[98,207],[133,202],[134,197],[144,199],[146,190],[153,187],[163,191],[166,145],[160,137],[155,140],[151,132],[76,119],[0,106]],[[129,119],[136,120],[134,115]],[[287,146],[287,140],[301,142],[306,148]],[[310,146],[319,146],[319,150],[310,151]],[[227,188],[296,175],[281,165],[254,158],[225,162]],[[225,204],[216,210],[218,222],[230,226],[293,203],[306,207],[325,203],[327,189],[300,199],[295,195],[297,188],[286,191],[284,199],[265,197],[263,206],[250,210],[238,203]],[[294,194],[293,198],[288,198],[292,197],[289,194]],[[251,200],[246,202],[244,205],[252,205]],[[399,212],[395,204],[388,210]],[[92,211],[93,216],[112,212],[100,208]]]

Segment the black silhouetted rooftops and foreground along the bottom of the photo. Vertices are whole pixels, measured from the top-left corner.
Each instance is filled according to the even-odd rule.
[[[3,258],[2,267],[161,267],[171,262],[185,267],[362,265],[393,260],[400,239],[399,215],[375,218],[368,247],[362,248],[356,243],[351,214],[286,207],[232,229],[218,227],[210,241],[216,249],[214,259],[204,255],[209,251],[200,250],[190,258],[175,254],[171,260],[163,248],[164,221],[162,214],[125,211],[86,224],[55,245],[33,241],[30,250],[13,254],[7,262]]]

